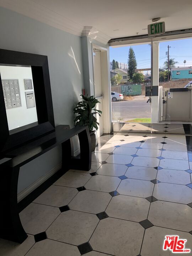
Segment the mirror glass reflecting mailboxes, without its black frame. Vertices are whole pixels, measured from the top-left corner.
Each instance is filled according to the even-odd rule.
[[[0,65],[9,133],[38,124],[32,70],[30,66]]]

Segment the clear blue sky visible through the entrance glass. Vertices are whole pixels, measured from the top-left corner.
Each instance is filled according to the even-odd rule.
[[[159,68],[164,67],[164,62],[167,60],[166,52],[167,46],[169,48],[170,58],[174,58],[178,63],[177,66],[183,67],[183,61],[186,60],[185,66],[192,66],[192,38],[175,40],[169,42],[159,43]],[[116,60],[118,62],[127,63],[128,52],[130,46],[112,48],[110,47],[110,62]],[[132,46],[136,60],[137,68],[150,68],[151,67],[151,47],[149,44],[140,44]]]

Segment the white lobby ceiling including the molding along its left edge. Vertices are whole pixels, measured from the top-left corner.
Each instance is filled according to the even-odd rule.
[[[0,0],[0,5],[66,32],[81,36],[94,27],[100,41],[147,34],[152,18],[167,31],[192,28],[191,0]]]

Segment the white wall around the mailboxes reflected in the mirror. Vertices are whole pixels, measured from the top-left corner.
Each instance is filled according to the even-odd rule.
[[[21,107],[8,108],[7,121],[9,130],[25,126],[26,124],[37,122],[36,107],[28,108],[26,104],[25,92],[34,90],[25,90],[24,79],[31,79],[33,86],[32,71],[29,67],[19,66],[0,66],[1,79],[18,79],[20,89]],[[35,98],[35,97],[34,97]]]

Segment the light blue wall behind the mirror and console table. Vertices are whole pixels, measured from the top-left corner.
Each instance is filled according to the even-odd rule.
[[[73,108],[84,87],[80,37],[1,7],[0,32],[0,48],[48,56],[55,125],[73,127]],[[61,150],[55,148],[21,167],[18,192],[60,162]]]

